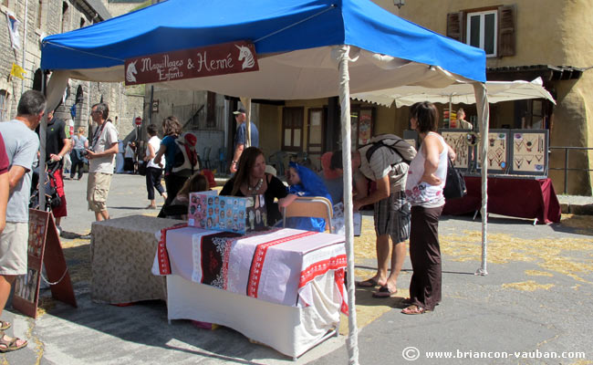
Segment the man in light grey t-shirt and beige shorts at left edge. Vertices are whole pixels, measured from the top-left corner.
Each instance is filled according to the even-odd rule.
[[[6,207],[5,229],[0,234],[0,316],[16,276],[26,275],[29,235],[29,199],[31,169],[39,150],[39,137],[34,131],[46,110],[46,98],[39,91],[28,90],[21,96],[16,119],[0,123],[8,156],[10,197]],[[0,352],[26,347],[26,340],[11,338],[5,330],[11,324],[0,321]]]

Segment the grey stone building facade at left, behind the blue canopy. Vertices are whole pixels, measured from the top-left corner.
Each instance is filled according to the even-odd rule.
[[[0,53],[0,120],[16,116],[18,99],[24,91],[42,88],[44,75],[40,64],[43,37],[90,26],[111,17],[105,0],[1,0],[0,12],[0,47],[3,50]],[[7,15],[20,22],[17,49],[12,47]],[[13,64],[25,69],[23,80],[10,76]],[[47,72],[46,78],[50,77],[51,72]],[[90,108],[102,100],[108,103],[109,118],[118,127],[123,139],[133,130],[133,118],[141,115],[143,93],[143,88],[130,89],[120,83],[71,79],[56,116],[72,120],[75,128],[85,127],[88,132]]]

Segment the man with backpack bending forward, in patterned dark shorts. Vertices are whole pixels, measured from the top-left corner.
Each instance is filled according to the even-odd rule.
[[[375,233],[377,235],[377,274],[357,283],[359,287],[377,287],[373,297],[390,297],[397,292],[397,279],[406,256],[405,241],[410,237],[410,203],[404,188],[411,159],[416,150],[394,134],[373,137],[370,143],[352,152],[352,175],[356,194],[353,210],[374,204]],[[330,168],[342,172],[342,151],[335,151]],[[369,193],[369,183],[376,190]],[[387,275],[390,238],[391,272]]]

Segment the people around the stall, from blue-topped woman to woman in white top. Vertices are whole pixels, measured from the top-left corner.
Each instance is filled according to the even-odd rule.
[[[335,179],[324,178],[323,174],[319,176],[307,167],[290,163],[288,188],[274,174],[266,172],[264,152],[253,145],[254,140],[257,143],[257,137],[254,139],[252,134],[252,146],[245,148],[244,110],[237,110],[235,115],[239,129],[238,140],[235,140],[234,160],[230,167],[234,175],[224,184],[221,195],[264,195],[268,225],[280,221],[280,209],[292,203],[297,196],[325,196],[332,203],[341,200],[341,194],[332,197],[326,186],[326,183]],[[163,155],[167,160],[167,151],[170,151],[168,146],[171,145],[171,141],[167,141],[168,136],[174,139],[181,132],[173,118],[163,122],[166,137],[154,160],[157,164],[161,162]],[[455,152],[436,133],[438,122],[438,111],[432,103],[416,103],[411,107],[410,123],[411,129],[418,131],[421,140],[418,153],[409,146],[410,149],[403,158],[401,153],[388,148],[376,149],[369,154],[371,144],[352,153],[355,187],[353,208],[358,211],[365,205],[373,204],[377,235],[377,273],[360,281],[358,285],[378,287],[373,293],[374,297],[391,297],[397,293],[398,276],[407,254],[406,241],[409,240],[413,274],[410,302],[402,310],[404,314],[425,313],[433,310],[441,301],[438,222],[444,206],[442,191],[447,173],[447,158],[454,160]],[[328,167],[324,170],[329,170],[325,176],[340,176],[343,169],[341,151],[333,152],[330,156],[324,155],[325,166]],[[205,179],[197,179],[197,175],[199,174],[192,178],[175,176],[168,174],[165,167],[169,199],[174,200],[174,203],[168,202],[165,205],[176,208],[170,209],[172,214],[169,216],[183,217],[187,212],[188,193],[209,188]],[[374,183],[373,190],[369,189],[371,182]],[[163,210],[166,211],[164,208]],[[324,231],[326,228],[323,219],[315,218],[297,219],[289,221],[287,225],[316,231]]]

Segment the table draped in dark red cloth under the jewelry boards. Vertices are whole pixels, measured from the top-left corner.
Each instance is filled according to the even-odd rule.
[[[447,200],[442,214],[468,214],[482,207],[482,178],[464,176],[467,195]],[[488,213],[560,222],[560,203],[551,179],[488,177]]]

